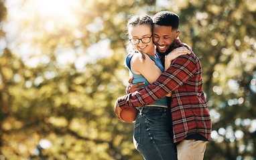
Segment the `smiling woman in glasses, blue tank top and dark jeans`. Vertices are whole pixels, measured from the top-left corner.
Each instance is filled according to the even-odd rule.
[[[145,82],[145,85],[149,85],[165,70],[152,41],[153,21],[148,15],[135,15],[128,21],[127,31],[131,51],[127,55],[126,65],[133,75],[133,83]],[[190,53],[186,48],[182,53],[176,50],[172,52],[166,56],[166,69],[173,59]],[[139,107],[133,143],[144,159],[177,159],[172,137],[166,97]]]

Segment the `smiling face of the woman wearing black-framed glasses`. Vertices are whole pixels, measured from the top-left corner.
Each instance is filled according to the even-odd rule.
[[[133,47],[142,53],[150,54],[155,52],[155,45],[153,44],[151,35],[152,31],[149,25],[135,25],[129,27],[129,39],[139,39],[139,43],[133,44]],[[150,40],[149,43],[145,43],[147,42],[147,38]]]

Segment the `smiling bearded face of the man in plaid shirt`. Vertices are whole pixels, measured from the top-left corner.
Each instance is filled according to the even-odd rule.
[[[153,25],[153,42],[159,54],[167,54],[178,39],[180,31],[172,26]]]

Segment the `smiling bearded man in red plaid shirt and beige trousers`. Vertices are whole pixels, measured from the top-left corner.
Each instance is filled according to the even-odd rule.
[[[178,15],[169,11],[159,12],[153,17],[153,23],[153,42],[162,62],[173,49],[188,47],[178,39]],[[192,51],[174,59],[152,85],[117,99],[115,113],[120,118],[122,109],[146,107],[168,93],[172,93],[169,105],[178,159],[203,159],[206,142],[210,141],[211,121],[202,91],[202,68]]]

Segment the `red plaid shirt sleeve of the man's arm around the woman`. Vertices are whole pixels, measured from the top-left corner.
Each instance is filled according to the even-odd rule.
[[[196,66],[198,61],[194,53],[176,58],[172,61],[169,69],[162,73],[152,85],[148,85],[141,91],[119,97],[117,99],[119,106],[121,109],[125,109],[129,107],[142,107],[154,103],[193,77],[198,71],[198,67]]]

